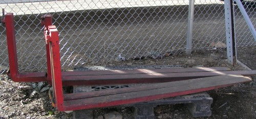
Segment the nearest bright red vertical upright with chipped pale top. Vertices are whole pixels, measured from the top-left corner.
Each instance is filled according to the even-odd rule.
[[[49,30],[49,52],[50,52],[50,65],[51,65],[51,78],[54,96],[56,100],[56,106],[58,110],[63,111],[63,91],[61,80],[61,65],[60,65],[60,53],[59,53],[59,36],[58,31],[54,25],[48,27]]]

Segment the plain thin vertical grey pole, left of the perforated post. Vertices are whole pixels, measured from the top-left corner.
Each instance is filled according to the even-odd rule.
[[[187,28],[187,39],[186,39],[186,54],[191,54],[191,51],[192,51],[194,5],[195,5],[195,0],[189,0],[188,19],[187,19],[188,28]]]

